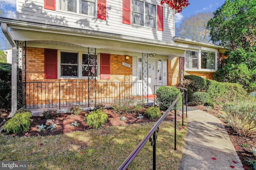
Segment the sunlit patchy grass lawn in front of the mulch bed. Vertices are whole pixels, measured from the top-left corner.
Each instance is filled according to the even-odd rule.
[[[185,122],[185,127],[187,122]],[[0,160],[27,160],[29,170],[115,170],[155,122],[104,127],[45,137],[0,135]],[[182,158],[186,128],[177,122],[177,150],[174,150],[174,122],[164,121],[157,138],[157,169],[177,170]],[[182,129],[178,131],[178,129]],[[146,143],[129,170],[152,169],[152,146]]]

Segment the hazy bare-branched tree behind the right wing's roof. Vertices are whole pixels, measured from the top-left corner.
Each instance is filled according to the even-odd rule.
[[[175,28],[176,35],[205,43],[210,42],[210,30],[207,22],[212,18],[212,12],[203,12],[183,18]]]

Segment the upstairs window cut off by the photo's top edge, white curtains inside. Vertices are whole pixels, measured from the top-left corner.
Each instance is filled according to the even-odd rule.
[[[59,9],[80,14],[95,15],[95,0],[59,0]]]

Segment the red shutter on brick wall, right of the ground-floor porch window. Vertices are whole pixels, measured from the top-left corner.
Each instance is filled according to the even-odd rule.
[[[110,79],[110,54],[100,54],[100,79]]]

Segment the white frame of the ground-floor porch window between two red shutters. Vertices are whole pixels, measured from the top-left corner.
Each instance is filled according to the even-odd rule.
[[[61,53],[77,53],[78,54],[78,73],[77,76],[61,76]],[[82,51],[67,51],[67,50],[58,50],[58,79],[88,79],[88,76],[82,76],[82,55],[88,54]],[[100,79],[100,54],[97,55],[97,68],[96,68],[96,79]]]

